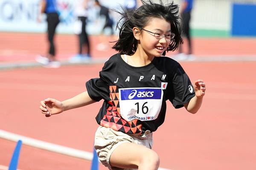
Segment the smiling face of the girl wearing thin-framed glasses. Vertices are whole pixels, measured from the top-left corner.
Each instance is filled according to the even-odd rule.
[[[160,18],[151,18],[141,30],[140,45],[148,57],[160,57],[170,44],[170,34],[169,22]]]

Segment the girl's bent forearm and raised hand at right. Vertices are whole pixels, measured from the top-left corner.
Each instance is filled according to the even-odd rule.
[[[194,90],[195,96],[189,102],[184,104],[186,110],[193,114],[199,110],[203,102],[203,97],[206,90],[204,81],[200,79],[196,80],[194,83]]]

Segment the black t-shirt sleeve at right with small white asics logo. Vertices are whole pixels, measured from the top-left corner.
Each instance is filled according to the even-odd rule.
[[[171,82],[171,96],[169,100],[175,108],[182,108],[183,105],[195,96],[192,83],[181,65],[177,63]]]

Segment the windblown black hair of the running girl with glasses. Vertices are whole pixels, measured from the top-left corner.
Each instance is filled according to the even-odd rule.
[[[179,6],[173,2],[163,4],[162,0],[159,0],[160,3],[154,3],[152,0],[141,0],[143,3],[137,9],[124,9],[122,12],[116,11],[121,14],[120,20],[117,22],[116,28],[119,29],[119,39],[116,44],[112,47],[116,51],[119,51],[121,54],[133,55],[137,50],[138,42],[134,37],[132,29],[134,27],[139,28],[140,30],[144,28],[151,17],[163,18],[171,24],[172,33],[175,34],[175,37],[171,40],[170,45],[166,51],[175,51],[180,43],[183,43],[183,40],[180,36],[181,28],[179,22]],[[166,54],[164,51],[163,55]]]

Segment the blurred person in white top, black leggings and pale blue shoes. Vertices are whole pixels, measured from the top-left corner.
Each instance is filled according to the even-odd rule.
[[[89,0],[76,0],[74,9],[74,13],[77,17],[77,21],[75,23],[75,33],[78,35],[79,52],[77,55],[70,58],[70,62],[80,62],[91,57],[90,42],[86,31],[88,2]]]

